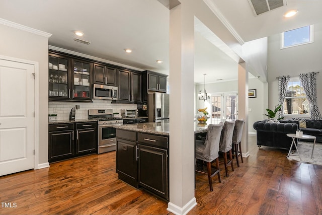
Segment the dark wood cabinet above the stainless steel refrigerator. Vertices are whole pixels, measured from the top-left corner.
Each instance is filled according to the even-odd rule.
[[[147,102],[147,94],[151,92],[167,92],[167,75],[145,70],[142,72],[142,101]]]

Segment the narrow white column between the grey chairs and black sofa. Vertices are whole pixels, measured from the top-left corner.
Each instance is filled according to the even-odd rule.
[[[238,63],[238,119],[245,119],[241,151],[243,157],[250,155],[248,148],[248,71],[246,62]]]

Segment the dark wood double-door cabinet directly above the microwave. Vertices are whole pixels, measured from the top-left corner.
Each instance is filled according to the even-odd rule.
[[[117,69],[112,66],[94,63],[94,84],[117,86]]]

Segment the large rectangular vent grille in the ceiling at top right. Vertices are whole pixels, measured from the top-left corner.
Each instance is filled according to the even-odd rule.
[[[286,5],[286,0],[248,0],[255,16]]]

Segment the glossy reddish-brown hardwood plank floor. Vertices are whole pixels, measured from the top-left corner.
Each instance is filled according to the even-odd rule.
[[[239,168],[234,160],[228,178],[221,165],[213,192],[197,173],[198,204],[188,214],[322,214],[322,166],[263,149],[254,147]],[[0,201],[0,214],[172,214],[167,202],[117,179],[115,152],[0,177]]]

